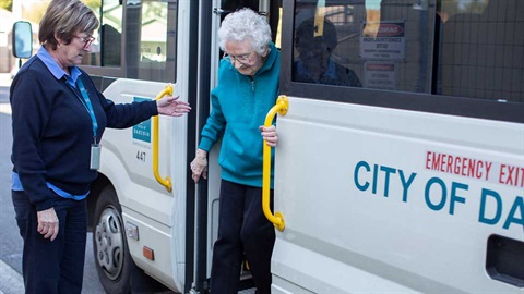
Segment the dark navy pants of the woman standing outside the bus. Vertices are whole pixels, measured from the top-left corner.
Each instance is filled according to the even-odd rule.
[[[38,233],[36,208],[23,191],[12,192],[16,222],[24,240],[22,260],[25,293],[82,292],[84,274],[87,210],[84,200],[57,195],[55,211],[59,219],[57,238]]]

